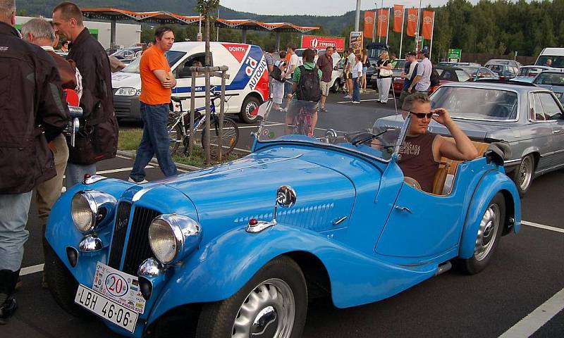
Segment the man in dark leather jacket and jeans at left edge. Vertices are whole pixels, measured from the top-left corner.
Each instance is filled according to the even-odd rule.
[[[0,0],[0,324],[17,308],[32,189],[56,175],[47,142],[69,118],[53,58],[24,42],[15,24],[15,0]]]

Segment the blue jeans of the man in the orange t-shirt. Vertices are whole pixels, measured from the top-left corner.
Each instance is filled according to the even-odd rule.
[[[170,153],[170,137],[166,124],[168,123],[168,104],[144,104],[141,102],[141,119],[143,120],[143,137],[139,148],[133,170],[129,177],[135,182],[145,180],[145,166],[149,164],[154,155],[163,174],[168,176],[177,175],[176,164],[172,161]]]

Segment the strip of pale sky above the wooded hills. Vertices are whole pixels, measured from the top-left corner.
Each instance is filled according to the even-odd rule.
[[[447,0],[422,0],[421,6],[442,6]],[[477,0],[470,0],[472,4]],[[355,0],[220,0],[221,6],[234,9],[235,11],[250,12],[257,14],[270,15],[290,15],[290,14],[309,14],[309,15],[343,15],[348,11],[354,11],[357,3]],[[403,5],[406,8],[419,7],[419,0],[398,0],[384,1],[385,7],[391,7],[393,4]],[[307,7],[305,7],[307,5]],[[378,1],[378,7],[381,1]],[[372,9],[376,8],[374,1],[361,1],[360,8]],[[221,16],[221,13],[220,13]]]

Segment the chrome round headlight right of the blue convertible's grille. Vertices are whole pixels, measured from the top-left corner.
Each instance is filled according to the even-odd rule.
[[[155,258],[164,264],[185,258],[201,239],[200,224],[183,215],[160,215],[149,226],[149,246]]]

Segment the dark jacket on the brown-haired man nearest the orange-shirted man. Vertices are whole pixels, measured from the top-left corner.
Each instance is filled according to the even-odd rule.
[[[80,106],[84,114],[75,146],[68,144],[68,161],[92,164],[113,158],[118,149],[118,123],[106,51],[85,28],[73,41],[67,58],[75,61],[82,75]]]

